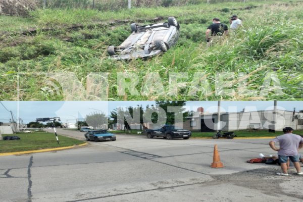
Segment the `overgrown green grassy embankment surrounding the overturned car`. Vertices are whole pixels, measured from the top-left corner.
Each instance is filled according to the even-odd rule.
[[[287,4],[285,4],[287,3]],[[17,73],[21,75],[19,99],[62,100],[62,89],[56,82],[45,82],[33,72],[75,73],[86,85],[90,72],[108,72],[109,100],[301,100],[303,88],[303,3],[289,1],[257,1],[249,3],[221,3],[182,7],[134,8],[116,12],[96,10],[37,10],[27,18],[0,16],[0,99],[17,99]],[[207,49],[205,30],[214,17],[228,23],[232,14],[243,20],[243,28],[231,34],[220,44]],[[181,35],[175,47],[164,55],[130,62],[108,58],[108,45],[119,45],[129,34],[129,24],[149,23],[156,17],[175,16],[181,25]],[[121,22],[121,20],[128,22]],[[120,20],[120,21],[119,21]],[[163,20],[161,20],[163,21]],[[100,25],[103,23],[103,25]],[[70,29],[71,25],[83,27]],[[36,28],[33,34],[22,34],[27,28]],[[52,28],[43,30],[43,28]],[[161,76],[165,94],[126,95],[117,93],[117,72],[135,73],[140,92],[144,76],[157,72]],[[169,72],[188,72],[189,79],[177,96],[171,96]],[[197,91],[188,96],[193,75],[205,72],[210,83],[208,92]],[[229,80],[231,94],[215,93],[217,72],[235,72]],[[260,94],[265,75],[275,72],[282,94]],[[239,73],[246,74],[242,76]],[[247,82],[245,90],[243,81]],[[277,80],[273,78],[274,80]],[[49,81],[49,80],[48,80]],[[54,87],[55,85],[55,87]],[[202,86],[200,88],[203,88]],[[239,91],[240,89],[240,91]],[[98,93],[95,91],[95,93]],[[97,94],[96,94],[97,95]],[[77,98],[73,98],[77,99]]]

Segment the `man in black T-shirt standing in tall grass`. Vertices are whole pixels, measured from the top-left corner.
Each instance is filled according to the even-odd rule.
[[[218,39],[222,35],[228,34],[227,25],[220,22],[219,18],[213,19],[213,24],[211,24],[206,30],[206,41],[207,45],[210,46],[215,39]]]

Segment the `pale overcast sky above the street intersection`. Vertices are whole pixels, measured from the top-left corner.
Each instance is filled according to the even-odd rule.
[[[155,105],[154,101],[29,101],[1,102],[8,111],[0,105],[0,122],[9,122],[12,111],[15,118],[22,118],[24,123],[35,121],[36,118],[53,118],[60,117],[63,123],[67,120],[70,123],[76,122],[76,119],[85,118],[86,115],[94,112],[104,112],[109,114],[117,107],[136,107],[142,105],[145,108],[147,105]],[[269,110],[273,109],[273,101],[222,101],[221,107],[226,112],[240,112],[245,108],[245,111]],[[189,101],[186,102],[186,109],[196,111],[198,107],[203,107],[207,112],[216,112],[217,101]],[[287,111],[293,111],[293,108],[298,112],[303,110],[303,101],[278,101],[278,107]]]

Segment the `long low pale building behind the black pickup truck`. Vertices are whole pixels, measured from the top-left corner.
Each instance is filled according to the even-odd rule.
[[[276,120],[276,123],[274,123]],[[276,130],[289,126],[294,130],[303,129],[303,112],[277,110],[235,112],[220,114],[220,129],[233,130]],[[218,129],[218,113],[197,112],[187,117],[183,128],[191,131],[213,132]]]

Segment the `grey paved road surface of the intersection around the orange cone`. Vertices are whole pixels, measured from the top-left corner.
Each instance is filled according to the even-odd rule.
[[[52,131],[52,130],[50,130]],[[84,133],[58,129],[84,139]],[[275,155],[269,139],[147,139],[0,157],[0,201],[302,201],[302,176],[250,164]],[[224,168],[214,169],[214,144]]]

